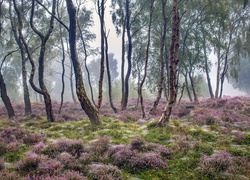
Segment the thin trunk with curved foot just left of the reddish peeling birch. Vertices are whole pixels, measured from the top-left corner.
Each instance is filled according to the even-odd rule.
[[[163,81],[164,81],[164,48],[165,48],[165,41],[166,41],[166,32],[167,32],[167,18],[166,18],[166,11],[165,11],[166,1],[162,0],[162,17],[163,17],[163,34],[161,37],[161,49],[160,49],[160,58],[161,58],[161,77],[159,82],[158,94],[156,100],[154,101],[153,107],[150,109],[149,114],[155,111],[157,108],[159,101],[161,99],[161,93],[163,89]]]

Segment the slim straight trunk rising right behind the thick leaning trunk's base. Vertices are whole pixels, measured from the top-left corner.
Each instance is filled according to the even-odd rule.
[[[99,95],[98,95],[98,103],[97,103],[97,111],[99,112],[102,105],[102,85],[103,85],[103,77],[104,77],[104,0],[101,0],[101,5],[99,0],[97,1],[98,15],[101,24],[101,65],[100,65],[100,78],[99,78]]]

